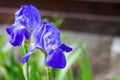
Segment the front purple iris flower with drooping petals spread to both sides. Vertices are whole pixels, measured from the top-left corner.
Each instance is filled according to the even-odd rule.
[[[42,49],[46,53],[45,62],[52,68],[64,68],[66,58],[64,51],[70,52],[72,48],[66,46],[60,40],[60,31],[49,22],[42,22],[40,27],[33,31],[34,45],[28,50],[28,53],[21,59],[22,63],[28,61],[29,56],[36,48]]]

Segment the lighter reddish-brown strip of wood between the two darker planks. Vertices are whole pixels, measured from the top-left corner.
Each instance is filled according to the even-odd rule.
[[[0,7],[0,23],[12,23],[14,20],[14,13],[18,9],[16,8],[4,8]],[[73,12],[58,12],[58,11],[48,11],[40,10],[41,16],[52,17],[57,14],[64,18],[69,19],[83,19],[83,20],[96,20],[104,22],[120,22],[120,16],[110,16],[110,15],[97,15],[88,13],[73,13]]]

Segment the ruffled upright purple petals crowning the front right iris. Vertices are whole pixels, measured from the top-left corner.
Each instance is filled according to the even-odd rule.
[[[49,22],[42,22],[40,28],[33,31],[34,42],[40,45],[46,52],[52,50],[53,46],[61,45],[60,31]]]

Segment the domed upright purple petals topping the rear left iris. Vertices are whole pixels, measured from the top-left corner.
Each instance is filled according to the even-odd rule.
[[[33,30],[41,22],[40,13],[33,5],[23,5],[15,13],[15,21]]]

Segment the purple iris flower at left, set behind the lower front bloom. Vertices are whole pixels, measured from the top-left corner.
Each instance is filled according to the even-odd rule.
[[[41,23],[39,11],[32,5],[23,5],[15,13],[15,22],[7,33],[11,36],[10,43],[13,46],[21,46],[24,39],[29,40],[30,32]]]

